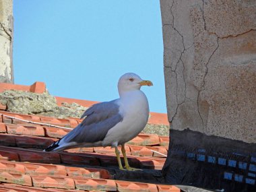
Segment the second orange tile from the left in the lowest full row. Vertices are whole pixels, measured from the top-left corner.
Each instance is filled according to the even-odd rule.
[[[32,176],[32,182],[34,187],[75,189],[73,179],[68,177]]]

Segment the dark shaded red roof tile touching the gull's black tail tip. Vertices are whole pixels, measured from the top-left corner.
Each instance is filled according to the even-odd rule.
[[[53,139],[45,138],[45,137],[26,137],[26,136],[15,136],[16,146],[19,148],[36,148],[44,150],[51,143],[54,142]]]

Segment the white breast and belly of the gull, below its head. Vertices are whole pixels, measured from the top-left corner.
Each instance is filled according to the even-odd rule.
[[[123,121],[108,131],[102,146],[117,146],[133,139],[148,122],[148,99],[141,90],[128,92],[117,104]]]

